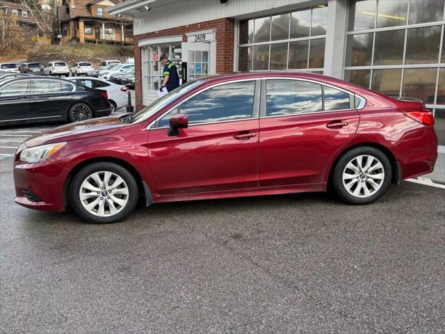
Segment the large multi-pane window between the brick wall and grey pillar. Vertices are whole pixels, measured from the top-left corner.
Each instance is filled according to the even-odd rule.
[[[321,72],[326,24],[327,4],[242,20],[239,22],[238,70],[289,68]]]

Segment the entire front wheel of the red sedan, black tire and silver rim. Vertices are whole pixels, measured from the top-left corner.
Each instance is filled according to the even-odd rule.
[[[104,184],[107,175],[108,185]],[[97,186],[95,180],[102,184]],[[120,183],[115,185],[115,182]],[[90,223],[117,223],[127,218],[136,207],[138,185],[126,168],[111,162],[97,162],[82,168],[74,176],[70,200],[74,212]]]

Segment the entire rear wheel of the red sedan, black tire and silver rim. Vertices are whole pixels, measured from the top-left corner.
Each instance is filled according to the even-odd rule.
[[[343,201],[364,205],[382,197],[391,183],[391,163],[385,153],[369,146],[354,148],[334,167],[332,185]]]

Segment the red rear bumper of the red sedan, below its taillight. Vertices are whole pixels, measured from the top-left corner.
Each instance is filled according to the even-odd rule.
[[[437,136],[433,127],[427,127],[423,136],[393,143],[394,153],[401,167],[402,179],[432,173],[437,160]]]

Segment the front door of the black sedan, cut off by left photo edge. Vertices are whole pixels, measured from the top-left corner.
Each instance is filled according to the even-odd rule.
[[[29,80],[24,79],[10,82],[0,88],[0,125],[2,122],[30,118],[29,102],[26,99],[28,92]]]

